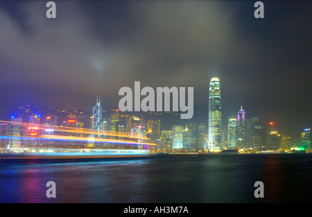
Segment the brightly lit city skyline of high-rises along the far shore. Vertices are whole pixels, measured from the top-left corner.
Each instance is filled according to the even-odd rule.
[[[229,119],[228,126],[220,124],[220,80],[217,77],[211,78],[209,83],[209,108],[208,124],[202,123],[203,118],[198,122],[188,122],[189,128],[185,123],[177,125],[176,122],[169,122],[172,127],[171,151],[174,150],[192,150],[192,151],[220,151],[223,149],[255,149],[255,150],[289,150],[293,145],[299,145],[304,135],[290,135],[277,128],[275,122],[264,124],[258,117],[248,117],[243,110],[243,106],[237,113],[237,119]],[[167,119],[168,115],[177,116],[173,111],[167,112],[146,112],[149,116],[135,117],[137,112],[123,113],[119,109],[111,109],[108,115],[101,109],[101,97],[96,97],[96,106],[93,108],[93,114],[90,111],[81,111],[75,108],[69,110],[50,109],[44,111],[41,106],[21,106],[15,113],[10,115],[12,122],[24,122],[35,124],[48,124],[55,126],[74,126],[78,128],[91,128],[101,131],[116,131],[122,133],[139,133],[139,135],[148,135],[153,141],[162,138],[163,132],[167,132],[166,127],[161,125],[161,120]],[[55,114],[58,111],[59,114]],[[91,119],[90,119],[90,115]],[[103,118],[102,118],[102,115]],[[162,117],[164,116],[164,118]],[[22,118],[23,117],[23,118]],[[40,118],[43,122],[40,122]],[[58,122],[56,121],[58,119]],[[133,124],[131,120],[141,120]],[[34,122],[35,121],[35,122]],[[48,122],[46,122],[48,121]],[[52,121],[52,122],[51,122]],[[104,125],[103,125],[104,124]],[[156,124],[156,125],[155,125]],[[167,123],[168,124],[168,123]],[[200,126],[202,125],[202,126]],[[161,127],[162,126],[162,127]],[[184,129],[185,126],[185,129]],[[200,126],[200,133],[199,127]],[[130,128],[132,129],[130,130]],[[167,126],[168,127],[168,126]],[[195,128],[194,128],[195,127]],[[231,129],[232,128],[232,129]],[[206,129],[206,130],[205,130]],[[304,132],[310,129],[304,129]],[[191,133],[191,134],[189,134]],[[208,134],[207,134],[208,133]],[[210,134],[211,133],[211,134]],[[302,133],[302,129],[301,129]],[[206,135],[205,135],[206,134]],[[200,137],[199,137],[200,136]],[[309,136],[308,136],[309,137]],[[206,140],[206,142],[205,142]],[[213,142],[216,141],[216,142]],[[308,140],[309,141],[309,140]],[[156,142],[157,143],[157,142]],[[164,144],[162,144],[164,147]],[[309,142],[307,147],[309,147]],[[158,148],[158,151],[162,151]]]

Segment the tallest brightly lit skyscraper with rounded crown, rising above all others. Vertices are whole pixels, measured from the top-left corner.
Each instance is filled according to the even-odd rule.
[[[216,151],[221,144],[221,92],[217,77],[213,77],[209,83],[208,112],[208,149]]]

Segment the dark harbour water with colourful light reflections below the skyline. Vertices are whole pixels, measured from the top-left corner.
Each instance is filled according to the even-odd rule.
[[[57,198],[46,198],[46,182]],[[254,198],[254,182],[264,198]],[[310,202],[312,154],[0,160],[0,202]]]

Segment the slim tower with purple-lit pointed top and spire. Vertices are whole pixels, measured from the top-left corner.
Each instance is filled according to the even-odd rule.
[[[243,111],[243,106],[241,106],[241,110],[237,113],[236,119],[236,139],[237,139],[237,147],[245,148],[246,144],[246,120],[245,120],[246,112]]]

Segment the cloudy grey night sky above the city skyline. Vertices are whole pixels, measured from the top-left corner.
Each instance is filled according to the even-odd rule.
[[[247,117],[283,133],[312,127],[312,1],[0,1],[0,113],[26,104],[118,108],[119,88],[193,86],[208,105],[219,77],[223,124]],[[202,122],[207,122],[203,120]]]

